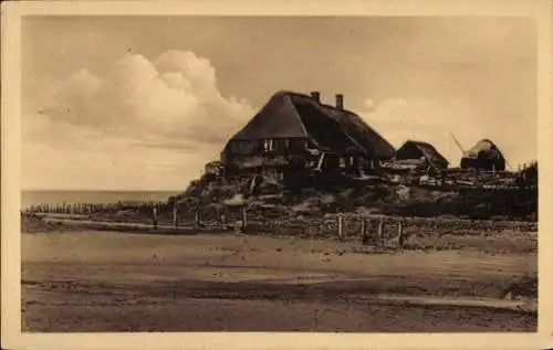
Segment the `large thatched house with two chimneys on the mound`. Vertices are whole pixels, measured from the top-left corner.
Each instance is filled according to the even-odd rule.
[[[371,171],[394,155],[394,147],[344,109],[344,96],[336,105],[322,104],[320,93],[274,94],[261,110],[234,136],[221,152],[228,173],[280,171],[290,162],[321,171]]]

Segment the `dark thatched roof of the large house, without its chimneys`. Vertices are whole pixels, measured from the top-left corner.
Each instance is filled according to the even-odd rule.
[[[356,114],[293,92],[274,94],[231,140],[312,138],[322,148],[389,158],[394,147]]]

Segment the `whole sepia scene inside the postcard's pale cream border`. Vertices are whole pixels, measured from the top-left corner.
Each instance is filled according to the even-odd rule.
[[[535,17],[19,23],[21,332],[538,332]]]

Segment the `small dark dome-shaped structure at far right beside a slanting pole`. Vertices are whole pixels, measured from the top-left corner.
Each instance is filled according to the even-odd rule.
[[[505,163],[501,150],[489,139],[479,141],[461,158],[461,169],[504,171]]]

